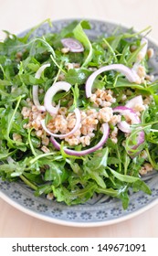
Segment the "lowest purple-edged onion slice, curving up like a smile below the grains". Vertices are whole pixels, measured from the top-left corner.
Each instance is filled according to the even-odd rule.
[[[82,151],[76,151],[76,150],[72,150],[72,149],[68,149],[68,148],[64,148],[64,152],[68,155],[76,155],[76,156],[81,156],[81,155],[88,155],[92,152],[95,152],[96,150],[100,149],[101,146],[103,146],[103,144],[106,143],[109,133],[110,133],[110,128],[109,128],[109,124],[108,123],[103,123],[102,124],[102,129],[103,129],[103,135],[102,138],[100,139],[100,142],[96,145],[94,145],[93,147],[90,147],[89,149],[86,150],[82,150]],[[54,144],[54,146],[60,150],[60,144],[58,144],[58,142],[56,141],[56,139],[51,136],[50,141],[52,144]]]

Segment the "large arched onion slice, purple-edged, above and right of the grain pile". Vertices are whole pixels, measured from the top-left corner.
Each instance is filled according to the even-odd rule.
[[[100,73],[109,71],[109,70],[116,70],[118,72],[121,72],[126,77],[126,79],[129,80],[130,82],[139,82],[140,81],[139,76],[136,74],[136,72],[132,71],[132,69],[129,69],[128,67],[126,67],[122,64],[111,64],[109,66],[105,66],[105,67],[102,67],[102,68],[94,71],[90,75],[90,77],[86,81],[86,87],[85,87],[87,98],[90,98],[90,96],[92,94],[91,93],[92,85],[93,85],[93,82],[96,79],[96,77],[98,75],[100,75]]]

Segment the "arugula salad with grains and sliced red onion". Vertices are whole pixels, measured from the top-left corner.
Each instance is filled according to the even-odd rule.
[[[85,20],[41,37],[37,28],[0,42],[1,178],[67,205],[105,194],[128,208],[158,170],[151,27],[95,39]]]

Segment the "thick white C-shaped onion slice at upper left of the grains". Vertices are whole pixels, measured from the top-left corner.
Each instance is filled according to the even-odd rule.
[[[58,81],[55,84],[53,84],[46,92],[45,98],[44,98],[44,106],[50,114],[57,114],[59,109],[59,103],[58,106],[53,107],[52,100],[54,95],[58,91],[69,91],[71,85],[66,81]]]

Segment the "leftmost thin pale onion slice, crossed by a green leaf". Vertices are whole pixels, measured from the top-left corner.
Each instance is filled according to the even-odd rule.
[[[36,75],[35,75],[35,78],[36,78],[37,80],[40,79],[40,76],[41,76],[42,72],[43,72],[47,67],[50,67],[50,64],[49,64],[49,63],[44,64],[44,65],[42,65],[39,69],[37,69],[37,73],[36,73]],[[45,107],[42,106],[42,105],[40,105],[40,103],[39,103],[39,99],[38,99],[38,85],[33,85],[32,96],[33,96],[34,104],[35,104],[36,107],[37,107],[37,110],[38,110],[38,111],[41,111],[41,112],[45,112],[45,111],[46,111]]]

